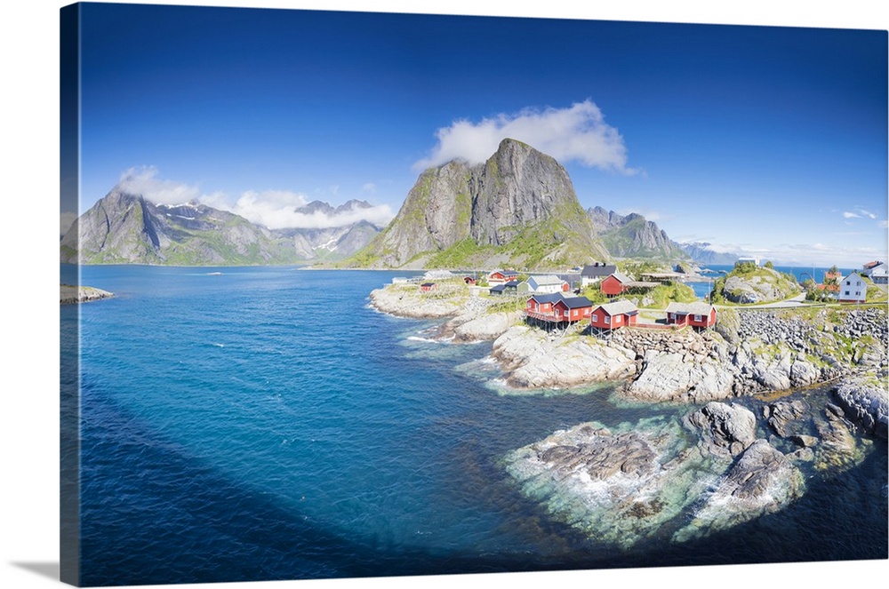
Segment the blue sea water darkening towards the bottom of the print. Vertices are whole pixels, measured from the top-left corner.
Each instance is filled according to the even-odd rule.
[[[394,275],[82,268],[116,297],[61,309],[63,338],[79,322],[79,356],[61,360],[81,375],[62,383],[63,416],[80,394],[62,458],[80,463],[79,532],[63,537],[79,537],[81,583],[885,559],[885,442],[701,541],[584,537],[521,495],[504,455],[584,421],[693,408],[627,406],[609,387],[504,394],[490,343],[438,343],[435,322],[368,306]]]

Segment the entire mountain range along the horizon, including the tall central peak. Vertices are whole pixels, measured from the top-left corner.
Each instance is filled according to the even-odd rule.
[[[565,168],[515,139],[501,141],[485,163],[453,160],[423,171],[387,227],[336,222],[361,219],[371,207],[357,200],[338,207],[313,201],[293,211],[313,227],[273,230],[205,204],[155,204],[115,187],[62,237],[60,258],[82,264],[535,270],[620,258],[737,259],[706,243],[675,243],[636,213],[598,206],[584,211]]]

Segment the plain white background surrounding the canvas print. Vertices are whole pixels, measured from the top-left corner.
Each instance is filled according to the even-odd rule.
[[[2,549],[0,586],[15,589],[59,585],[59,418],[58,418],[58,212],[59,212],[59,9],[69,4],[50,0],[4,5],[0,52],[0,100],[3,104],[3,184],[0,223],[4,254],[2,358]],[[574,0],[509,3],[491,0],[450,2],[276,1],[191,2],[143,4],[204,4],[353,10],[427,12],[730,23],[820,28],[887,28],[885,3],[844,0],[835,3],[794,3],[805,12],[784,8],[778,0],[763,2],[655,2],[624,0],[613,5]],[[504,3],[505,4],[505,3]],[[12,180],[12,181],[11,181]],[[470,575],[460,577],[390,578],[370,580],[283,581],[181,587],[272,589],[276,587],[466,587],[539,585],[757,587],[759,584],[821,587],[831,585],[884,586],[889,561],[802,563],[681,569],[635,569]],[[761,586],[761,585],[760,585]]]

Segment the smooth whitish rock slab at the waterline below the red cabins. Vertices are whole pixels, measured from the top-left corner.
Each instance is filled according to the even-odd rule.
[[[492,356],[515,388],[557,388],[621,380],[636,372],[632,351],[597,338],[551,338],[545,331],[516,325],[494,340]]]

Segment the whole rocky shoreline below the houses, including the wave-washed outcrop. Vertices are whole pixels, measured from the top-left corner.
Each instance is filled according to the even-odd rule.
[[[410,305],[416,295],[405,292],[399,303]],[[374,293],[374,306],[396,309],[391,293]],[[804,465],[834,476],[861,463],[869,440],[886,440],[885,308],[720,310],[717,330],[597,338],[489,313],[495,304],[416,308],[448,319],[440,337],[493,340],[510,387],[619,382],[617,394],[633,402],[691,406],[678,419],[581,423],[504,458],[526,497],[599,541],[626,549],[667,533],[685,542],[775,513],[805,494]]]

